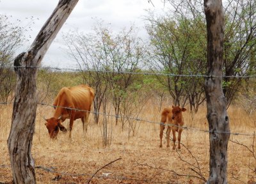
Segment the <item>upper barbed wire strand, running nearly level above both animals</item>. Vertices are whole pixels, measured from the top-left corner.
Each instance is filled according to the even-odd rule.
[[[0,68],[37,68],[44,70],[61,70],[61,71],[74,71],[74,72],[100,72],[100,73],[122,73],[132,75],[163,75],[168,77],[222,77],[222,78],[256,78],[256,75],[203,75],[203,74],[175,74],[175,73],[163,73],[163,72],[127,72],[116,70],[90,70],[90,69],[78,69],[78,68],[58,68],[48,66],[0,66]]]

